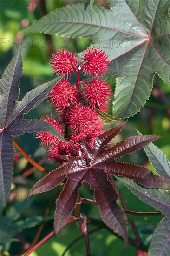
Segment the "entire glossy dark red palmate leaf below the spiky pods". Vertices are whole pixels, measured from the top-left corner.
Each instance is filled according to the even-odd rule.
[[[46,175],[31,189],[29,196],[53,189],[59,182],[69,178],[57,200],[55,212],[55,231],[57,234],[74,209],[78,197],[78,189],[81,188],[84,180],[95,191],[95,199],[100,208],[103,221],[114,232],[122,236],[124,241],[127,241],[126,217],[124,211],[116,202],[118,195],[108,180],[108,174],[123,176],[150,188],[170,187],[169,180],[162,176],[154,175],[147,168],[115,161],[115,159],[123,155],[143,148],[161,136],[137,135],[105,149],[105,146],[118,134],[125,123],[104,132],[96,138],[93,148],[89,147],[88,143],[83,139],[81,150],[78,151],[76,157],[68,156],[66,158],[68,163],[64,163],[60,168]]]

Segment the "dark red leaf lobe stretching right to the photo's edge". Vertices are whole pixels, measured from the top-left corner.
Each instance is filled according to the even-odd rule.
[[[124,162],[111,162],[111,163],[100,163],[102,170],[109,171],[112,175],[123,176],[128,179],[134,180],[141,185],[149,188],[167,188],[170,187],[170,180],[154,175],[149,169],[135,164],[124,163]],[[97,166],[96,166],[97,168]]]

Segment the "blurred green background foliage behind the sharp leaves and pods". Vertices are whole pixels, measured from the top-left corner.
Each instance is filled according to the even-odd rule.
[[[46,36],[43,34],[24,33],[23,29],[35,20],[49,13],[51,10],[62,7],[65,4],[71,4],[75,1],[61,1],[61,0],[46,0],[46,1],[32,1],[29,0],[2,0],[1,19],[0,19],[0,73],[13,57],[16,49],[16,42],[20,42],[23,56],[23,77],[20,81],[20,100],[27,91],[36,87],[37,85],[48,81],[52,77],[52,68],[50,68],[51,52],[57,49],[68,48],[72,51],[81,52],[88,47],[92,40],[90,38],[75,38],[68,39],[62,36]],[[114,94],[115,77],[108,78]],[[170,89],[162,81],[158,75],[154,78],[154,89],[150,95],[149,101],[141,108],[140,113],[130,118],[124,130],[115,138],[113,142],[122,140],[131,135],[137,135],[135,129],[138,129],[142,134],[158,134],[163,135],[163,138],[156,141],[155,144],[163,150],[169,157],[170,155]],[[108,114],[111,114],[111,105]],[[25,118],[40,118],[42,115],[49,115],[53,109],[46,101],[42,102],[37,108],[25,115]],[[116,122],[117,124],[118,122]],[[111,128],[114,124],[105,126],[105,129]],[[43,166],[49,170],[56,168],[48,161],[46,148],[39,147],[39,141],[34,139],[33,134],[25,134],[15,137],[27,154],[29,154],[35,161],[43,161]],[[151,168],[150,163],[144,153],[144,150],[134,152],[122,158],[124,162],[131,162],[135,164],[145,164]],[[43,195],[37,195],[29,200],[24,200],[29,189],[33,184],[41,179],[44,174],[36,170],[30,175],[24,173],[32,168],[21,155],[19,160],[14,165],[13,171],[13,193],[7,202],[7,207],[2,209],[2,224],[8,223],[7,230],[3,230],[3,241],[0,249],[6,252],[7,255],[16,254],[23,251],[32,241],[38,230],[38,225],[41,217],[44,215],[48,202],[52,196],[57,193],[59,195],[61,186],[47,192]],[[130,210],[134,211],[155,211],[150,206],[144,204],[136,196],[118,182],[118,186],[124,196]],[[80,190],[82,197],[93,199],[93,191],[87,184]],[[24,200],[24,201],[23,201]],[[45,223],[44,229],[40,235],[40,239],[46,236],[53,229],[53,213],[55,210],[55,202],[53,202],[50,209],[49,217]],[[96,206],[83,204],[82,212],[87,216],[100,219],[99,210]],[[128,216],[129,218],[129,216]],[[155,229],[162,216],[156,217],[139,217],[131,216],[134,219],[139,234],[144,239],[145,245],[150,243],[153,230]],[[24,226],[25,225],[25,226]],[[11,228],[9,228],[11,227]],[[28,229],[29,228],[29,229]],[[89,230],[94,227],[89,226]],[[16,230],[16,231],[15,231]],[[2,234],[1,233],[1,234]],[[14,235],[13,235],[14,234]],[[131,237],[133,233],[129,226],[129,234]],[[65,248],[78,236],[81,236],[80,229],[77,223],[68,224],[62,231],[59,237],[52,236],[46,243],[42,244],[31,255],[32,256],[60,256]],[[98,232],[90,235],[90,247],[92,255],[96,256],[135,256],[135,249],[130,245],[124,243],[114,236],[106,229],[101,229]],[[85,243],[81,239],[67,251],[65,255],[69,256],[84,256]]]

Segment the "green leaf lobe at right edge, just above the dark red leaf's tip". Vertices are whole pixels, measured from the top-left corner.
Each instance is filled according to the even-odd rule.
[[[142,135],[139,131],[137,133]],[[157,173],[166,179],[170,179],[170,162],[162,150],[150,143],[144,148],[144,151]]]

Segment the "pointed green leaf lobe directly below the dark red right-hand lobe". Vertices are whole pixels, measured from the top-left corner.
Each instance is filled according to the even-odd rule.
[[[170,216],[170,190],[147,189],[131,180],[118,177],[117,179],[142,201],[162,211],[163,215]]]

